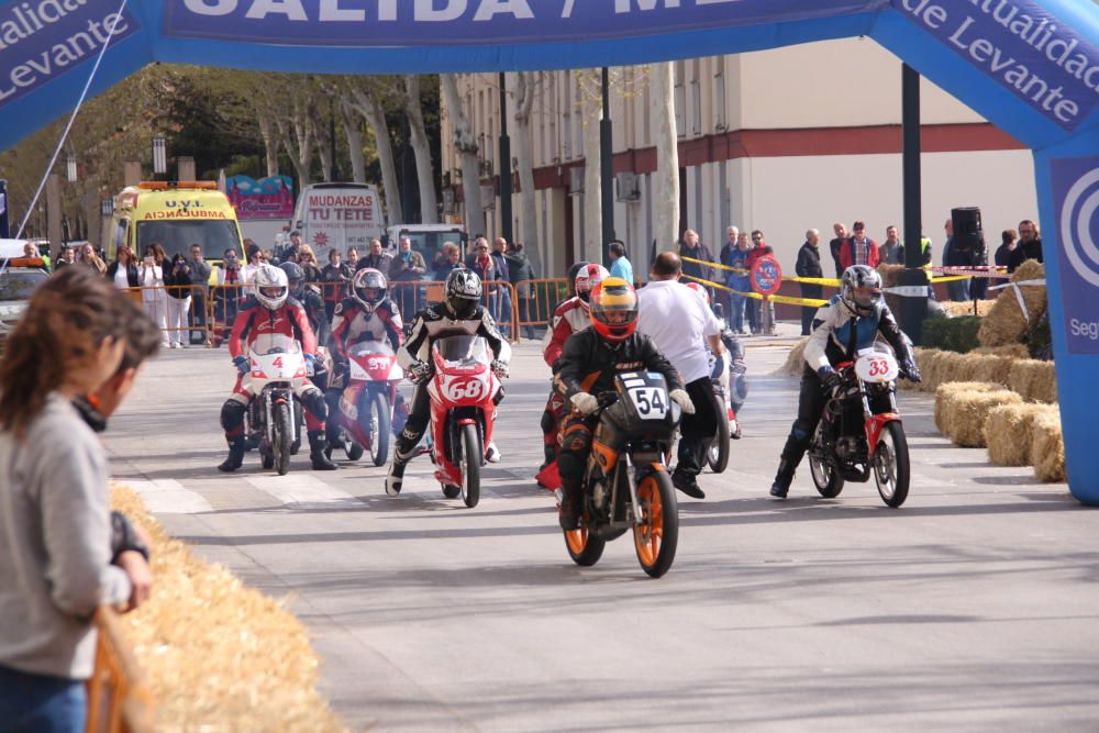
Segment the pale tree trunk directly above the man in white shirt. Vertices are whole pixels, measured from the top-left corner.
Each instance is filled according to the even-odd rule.
[[[675,249],[679,235],[676,231],[679,227],[679,136],[676,131],[675,67],[666,62],[653,64],[652,69],[653,130],[656,133],[653,236],[656,238],[656,251],[666,252]],[[651,245],[646,242],[645,248]]]

